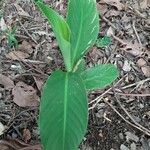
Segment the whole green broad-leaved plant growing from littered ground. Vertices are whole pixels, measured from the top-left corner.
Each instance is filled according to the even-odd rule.
[[[66,18],[42,0],[35,3],[48,19],[65,63],[65,70],[53,72],[43,89],[41,143],[44,150],[77,150],[87,129],[88,92],[112,83],[118,71],[112,64],[85,69],[83,57],[99,32],[95,0],[69,0]]]

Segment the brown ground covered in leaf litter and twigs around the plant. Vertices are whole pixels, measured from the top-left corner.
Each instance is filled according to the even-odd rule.
[[[47,0],[60,14],[66,1]],[[119,78],[89,95],[89,125],[81,150],[150,150],[150,1],[97,0],[100,37],[87,66],[111,63]],[[40,150],[38,106],[48,75],[64,67],[54,34],[31,0],[0,1],[0,150]],[[16,28],[18,46],[8,32]],[[5,129],[5,130],[4,130]]]

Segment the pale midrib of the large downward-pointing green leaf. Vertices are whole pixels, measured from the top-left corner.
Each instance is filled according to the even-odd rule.
[[[65,138],[66,138],[66,120],[67,120],[67,92],[68,92],[68,73],[65,75],[65,87],[64,87],[64,112],[63,112],[63,150],[65,150]]]

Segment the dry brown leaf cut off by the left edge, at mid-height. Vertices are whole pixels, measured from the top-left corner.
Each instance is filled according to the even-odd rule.
[[[0,74],[0,84],[3,85],[6,89],[14,87],[14,82],[9,77],[2,74]]]

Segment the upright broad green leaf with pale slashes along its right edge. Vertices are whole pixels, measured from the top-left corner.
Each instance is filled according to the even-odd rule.
[[[68,5],[71,60],[72,66],[75,67],[97,39],[99,17],[95,0],[69,0]]]

